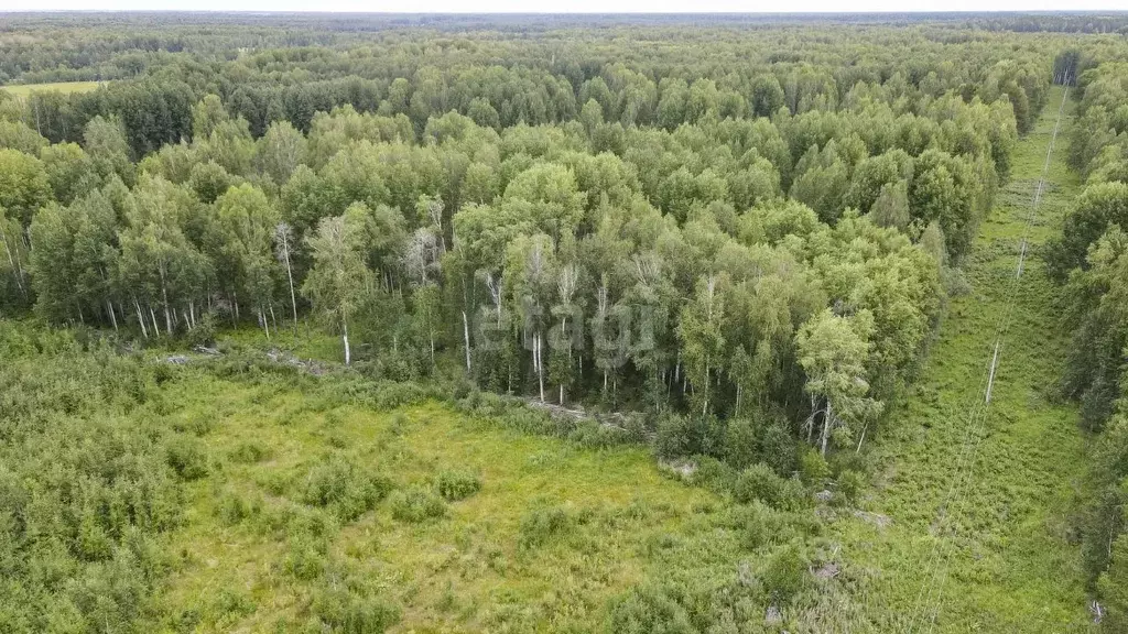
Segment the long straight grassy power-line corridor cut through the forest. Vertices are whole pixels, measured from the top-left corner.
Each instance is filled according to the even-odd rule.
[[[1056,230],[1078,188],[1065,164],[1069,104],[1030,231],[1032,255],[1015,297],[993,404],[972,435],[978,442],[973,464],[959,468],[969,412],[982,398],[995,327],[1012,288],[1023,220],[1061,97],[1055,89],[1037,129],[1015,149],[1012,179],[966,263],[972,291],[952,301],[928,367],[874,449],[878,477],[865,507],[892,523],[879,528],[853,520],[834,528],[847,560],[865,571],[869,582],[857,599],[878,631],[931,632],[933,613],[941,632],[1090,626],[1079,545],[1069,534],[1085,441],[1075,408],[1051,399],[1067,341],[1057,334],[1056,291],[1038,257],[1039,245]],[[968,472],[970,485],[953,497],[940,527],[945,494]],[[932,600],[922,598],[933,561],[945,558],[943,590]]]

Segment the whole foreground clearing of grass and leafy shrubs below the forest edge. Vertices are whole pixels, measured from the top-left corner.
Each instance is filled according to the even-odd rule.
[[[68,631],[309,633],[852,616],[855,576],[823,538],[848,509],[816,504],[818,469],[804,486],[763,465],[655,465],[626,430],[254,349],[123,354],[0,320],[0,505],[34,520],[7,543],[0,604],[24,609],[0,611],[5,632],[60,611]],[[49,558],[74,581],[37,576]]]

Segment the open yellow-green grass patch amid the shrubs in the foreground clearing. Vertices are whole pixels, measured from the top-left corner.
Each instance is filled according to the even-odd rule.
[[[317,579],[365,580],[402,610],[393,631],[592,631],[663,552],[716,539],[717,500],[661,475],[643,449],[582,449],[439,404],[373,412],[190,376],[167,393],[168,422],[199,432],[209,467],[188,485],[153,628],[296,629],[318,601],[308,564]],[[318,509],[311,487],[336,464],[395,491],[354,518]],[[464,483],[450,501],[441,476]],[[331,525],[314,555],[302,521]]]

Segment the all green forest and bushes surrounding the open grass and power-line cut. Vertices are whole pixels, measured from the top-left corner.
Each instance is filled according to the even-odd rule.
[[[1086,178],[1045,254],[1075,329],[1061,396],[1096,438],[1077,523],[1103,623],[1128,628],[1126,24],[5,18],[0,82],[98,86],[0,89],[0,376],[16,386],[0,395],[0,629],[199,625],[143,599],[176,567],[155,551],[185,521],[177,500],[218,477],[159,423],[175,415],[160,386],[203,379],[152,351],[252,328],[268,346],[335,337],[323,361],[347,368],[270,380],[317,381],[336,406],[439,400],[584,447],[649,444],[733,504],[755,583],[679,570],[575,631],[866,629],[843,607],[860,581],[803,575],[823,570],[812,494],[865,486],[866,443],[949,298],[973,290],[961,267],[1055,85],[1078,99],[1068,152]],[[239,354],[209,372],[281,372]],[[561,428],[521,402],[625,422]],[[440,475],[437,496],[327,459],[272,493],[341,526],[386,496],[418,521],[482,486]],[[526,519],[537,544],[587,521]],[[288,562],[317,588],[296,616],[309,631],[400,620],[358,571]]]

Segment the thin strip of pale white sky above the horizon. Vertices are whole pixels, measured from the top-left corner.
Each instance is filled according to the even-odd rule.
[[[1128,10],[1128,0],[0,0],[0,11],[757,12]],[[2,24],[3,18],[0,18]]]

